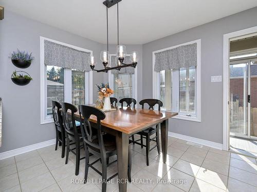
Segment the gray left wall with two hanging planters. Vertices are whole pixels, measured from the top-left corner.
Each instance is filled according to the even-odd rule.
[[[54,138],[53,123],[40,124],[40,36],[93,51],[99,59],[102,44],[31,19],[5,11],[0,21],[0,97],[3,98],[3,143],[0,153]],[[14,70],[9,54],[19,48],[35,57],[28,72],[33,80],[16,86],[10,79]],[[100,63],[100,60],[97,60]],[[93,84],[103,81],[102,73],[93,73]],[[93,89],[94,100],[97,92]]]

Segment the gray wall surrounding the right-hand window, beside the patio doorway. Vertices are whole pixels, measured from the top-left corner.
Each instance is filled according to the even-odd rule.
[[[257,26],[257,7],[143,45],[143,98],[153,95],[152,52],[201,39],[201,122],[170,120],[169,131],[223,143],[223,35]],[[149,80],[151,79],[151,80]]]

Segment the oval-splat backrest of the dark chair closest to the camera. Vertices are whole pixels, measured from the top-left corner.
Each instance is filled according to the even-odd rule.
[[[100,152],[104,154],[105,148],[103,143],[101,120],[105,119],[105,114],[101,110],[88,105],[79,105],[79,112],[80,121],[82,122],[80,127],[84,144],[89,146],[89,148],[98,148]],[[94,128],[91,127],[91,123],[89,122],[89,117],[91,115],[97,117],[97,126],[94,126]],[[98,142],[94,142],[96,138],[93,137],[94,135],[92,129],[97,129]]]

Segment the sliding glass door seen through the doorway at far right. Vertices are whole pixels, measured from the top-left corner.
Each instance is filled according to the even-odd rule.
[[[230,62],[230,135],[257,138],[257,62]]]

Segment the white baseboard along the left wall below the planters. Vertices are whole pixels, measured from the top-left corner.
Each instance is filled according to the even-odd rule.
[[[36,144],[33,144],[33,145],[28,145],[28,146],[24,146],[24,147],[21,147],[21,148],[16,148],[15,150],[11,150],[11,151],[8,151],[8,152],[3,152],[3,153],[0,153],[0,160],[6,159],[6,158],[9,158],[9,157],[13,157],[15,155],[20,155],[20,154],[23,154],[23,153],[31,152],[33,150],[38,150],[39,148],[43,148],[43,147],[46,147],[46,146],[49,146],[49,145],[53,145],[55,143],[56,143],[56,139],[51,139],[51,140],[44,141],[44,142],[41,142],[41,143],[36,143]]]

